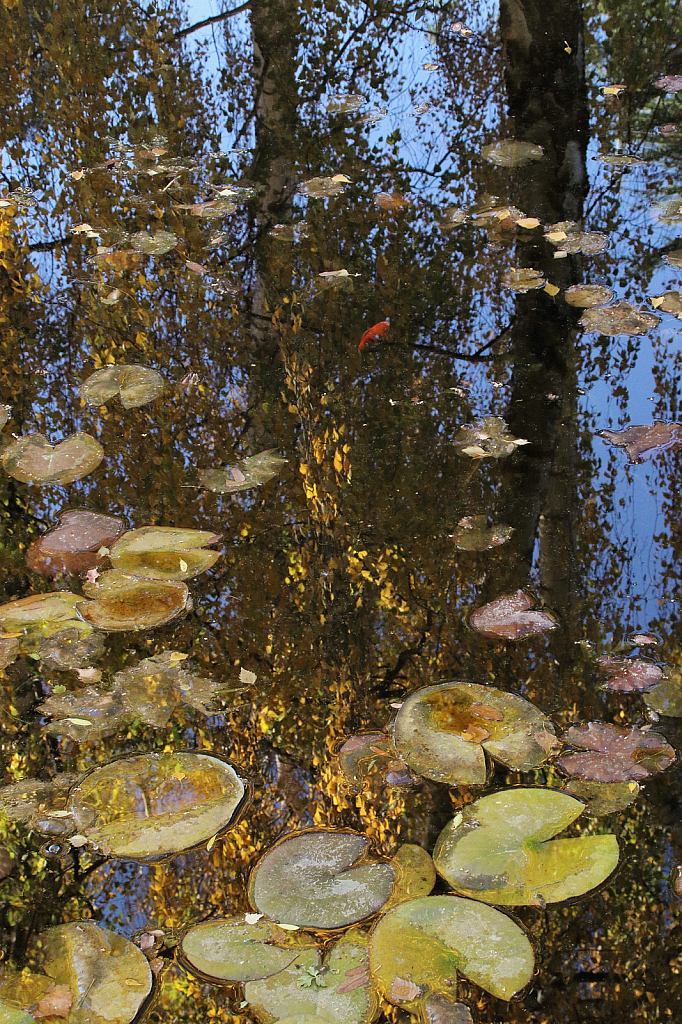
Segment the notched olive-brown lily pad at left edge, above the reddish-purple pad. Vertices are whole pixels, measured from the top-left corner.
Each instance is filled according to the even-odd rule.
[[[90,434],[72,434],[50,444],[44,434],[18,437],[2,453],[5,473],[23,483],[73,483],[96,469],[104,450]]]

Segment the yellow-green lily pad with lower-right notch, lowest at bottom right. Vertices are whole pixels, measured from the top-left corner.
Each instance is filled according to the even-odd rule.
[[[450,995],[458,972],[511,999],[532,978],[535,957],[525,932],[501,910],[458,896],[425,896],[379,920],[370,969],[384,998],[417,1013],[431,994]]]

